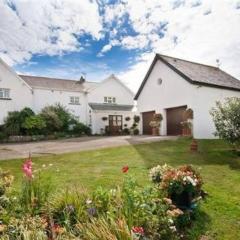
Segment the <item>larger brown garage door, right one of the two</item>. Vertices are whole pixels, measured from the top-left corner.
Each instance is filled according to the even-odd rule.
[[[187,106],[167,109],[167,135],[182,135],[183,112]]]

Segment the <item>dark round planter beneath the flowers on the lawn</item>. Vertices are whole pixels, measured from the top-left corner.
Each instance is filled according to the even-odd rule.
[[[183,191],[180,194],[173,193],[170,198],[172,199],[173,204],[182,210],[191,208],[193,200],[192,193],[187,191]]]

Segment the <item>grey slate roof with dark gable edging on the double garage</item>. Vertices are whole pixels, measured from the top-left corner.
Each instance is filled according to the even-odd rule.
[[[217,67],[156,54],[135,96],[135,100],[139,97],[157,60],[164,62],[191,84],[240,91],[240,81]]]

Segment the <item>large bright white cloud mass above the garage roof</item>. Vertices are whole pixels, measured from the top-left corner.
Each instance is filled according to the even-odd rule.
[[[127,1],[125,11],[139,37],[125,37],[134,41],[122,42],[122,47],[141,48],[149,44],[153,53],[212,65],[220,59],[221,68],[240,78],[240,9],[237,9],[237,1],[222,0],[221,4],[219,0],[202,0],[198,4],[191,0],[184,2],[173,8],[173,1]],[[161,29],[163,23],[167,24]],[[159,35],[161,31],[163,35]],[[135,91],[153,60],[152,54],[143,55],[145,61],[120,73]]]

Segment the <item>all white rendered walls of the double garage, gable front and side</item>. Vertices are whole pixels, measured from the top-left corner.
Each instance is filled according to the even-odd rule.
[[[162,79],[162,85],[158,84]],[[215,138],[215,126],[209,113],[216,101],[227,97],[240,97],[240,92],[221,88],[190,84],[167,65],[158,61],[137,103],[138,112],[155,110],[163,114],[160,133],[166,134],[166,108],[187,105],[194,112],[193,136],[195,138]],[[142,126],[142,123],[141,123]],[[142,130],[142,127],[140,128]]]

